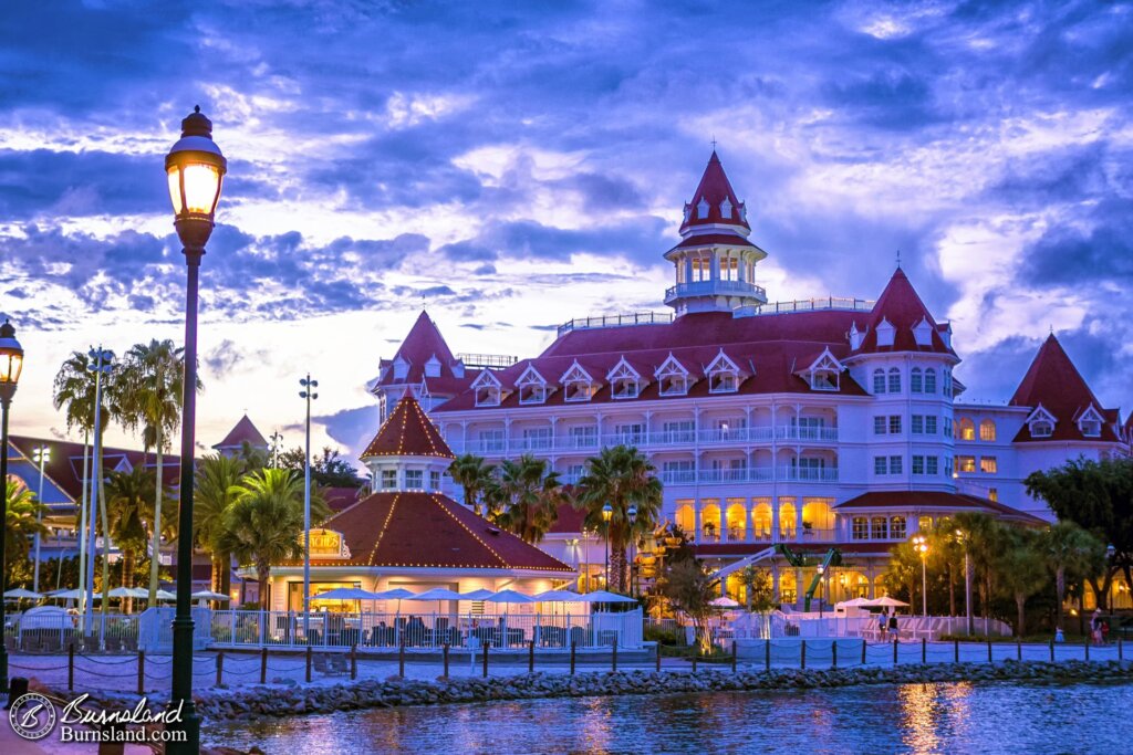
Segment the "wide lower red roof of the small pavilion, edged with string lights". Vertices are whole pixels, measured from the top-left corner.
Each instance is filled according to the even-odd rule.
[[[351,565],[573,572],[440,494],[377,492],[324,526],[346,538]]]

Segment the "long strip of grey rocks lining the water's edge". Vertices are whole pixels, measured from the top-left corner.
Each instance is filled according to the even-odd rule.
[[[258,717],[290,717],[402,705],[438,705],[540,697],[662,695],[756,689],[808,689],[880,684],[942,681],[1133,681],[1133,661],[1004,661],[929,666],[858,667],[840,669],[704,669],[691,671],[590,671],[523,674],[506,677],[462,677],[423,681],[390,677],[334,686],[255,686],[215,689],[196,696],[197,713],[208,721]],[[137,696],[100,695],[121,706]],[[152,700],[151,702],[156,702]]]

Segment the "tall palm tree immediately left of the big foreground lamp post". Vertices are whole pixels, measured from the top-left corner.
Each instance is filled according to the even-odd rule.
[[[169,447],[169,438],[181,422],[181,392],[185,386],[185,350],[178,349],[170,340],[152,340],[138,343],[126,352],[121,377],[118,380],[118,397],[121,406],[122,426],[127,430],[142,428],[142,444],[157,455],[157,474],[153,503],[153,554],[150,561],[150,601],[157,598],[157,557],[161,546],[161,509],[164,471],[162,455]],[[202,389],[199,378],[196,389]]]

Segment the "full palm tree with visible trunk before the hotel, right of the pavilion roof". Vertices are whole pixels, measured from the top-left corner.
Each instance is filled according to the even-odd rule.
[[[586,511],[583,525],[606,533],[610,542],[612,587],[625,591],[625,546],[637,535],[653,532],[661,513],[661,480],[656,467],[633,446],[603,448],[587,460],[586,474],[578,481],[577,505]],[[608,524],[602,509],[610,504],[613,513]],[[637,508],[630,522],[630,507]]]

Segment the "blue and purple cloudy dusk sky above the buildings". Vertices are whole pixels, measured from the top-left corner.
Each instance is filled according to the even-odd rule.
[[[365,383],[423,306],[453,351],[518,357],[572,317],[665,310],[714,139],[770,300],[876,298],[900,250],[965,398],[1006,401],[1053,329],[1124,418],[1131,38],[1124,2],[6,3],[12,429],[68,435],[70,351],[182,341],[163,156],[196,104],[229,160],[203,446],[244,412],[298,445],[309,372],[314,444],[357,453]]]

